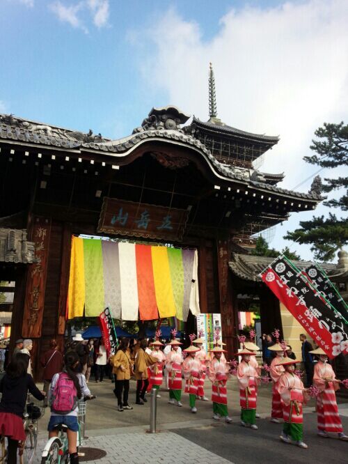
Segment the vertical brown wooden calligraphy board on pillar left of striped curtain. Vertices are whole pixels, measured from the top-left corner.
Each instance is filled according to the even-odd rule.
[[[22,337],[41,337],[42,316],[45,304],[47,263],[51,219],[33,217],[31,241],[35,243],[35,263],[29,265],[26,279]]]

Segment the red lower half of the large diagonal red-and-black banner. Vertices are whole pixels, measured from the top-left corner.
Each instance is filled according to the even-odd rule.
[[[334,348],[332,335],[329,330],[326,329],[325,325],[323,325],[320,320],[311,314],[310,309],[303,304],[300,298],[301,295],[299,295],[300,297],[296,295],[294,291],[296,288],[294,289],[293,287],[287,286],[272,268],[265,270],[261,274],[261,278],[264,284],[269,286],[271,291],[278,297],[278,300],[287,307],[292,316],[299,321],[306,332],[313,337],[317,345],[322,348],[331,359],[340,353],[336,353],[336,348]]]

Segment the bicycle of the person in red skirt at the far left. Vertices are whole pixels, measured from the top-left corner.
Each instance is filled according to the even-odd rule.
[[[30,402],[30,394],[26,403],[26,412],[23,414],[23,426],[25,440],[18,444],[19,464],[31,464],[35,457],[36,447],[38,445],[38,419],[45,414],[43,405],[35,405]],[[6,463],[7,448],[6,437],[2,436],[0,440],[0,464]]]

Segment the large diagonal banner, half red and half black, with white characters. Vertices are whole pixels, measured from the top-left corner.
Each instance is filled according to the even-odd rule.
[[[330,358],[347,351],[344,327],[338,325],[338,319],[333,320],[331,309],[315,296],[308,279],[290,261],[279,256],[260,276]]]

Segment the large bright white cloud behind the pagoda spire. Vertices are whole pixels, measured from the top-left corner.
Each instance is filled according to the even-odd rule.
[[[302,160],[310,153],[315,129],[347,116],[347,22],[346,0],[247,6],[230,10],[216,36],[206,40],[196,22],[171,9],[145,31],[137,31],[143,47],[139,68],[148,91],[166,91],[169,101],[164,105],[177,105],[207,121],[212,61],[218,116],[242,130],[279,134],[278,146],[267,153],[261,169],[285,171],[283,186],[292,188],[317,170]],[[311,182],[297,190],[308,191]],[[291,229],[306,216],[294,215]],[[290,224],[284,224],[279,237]]]

